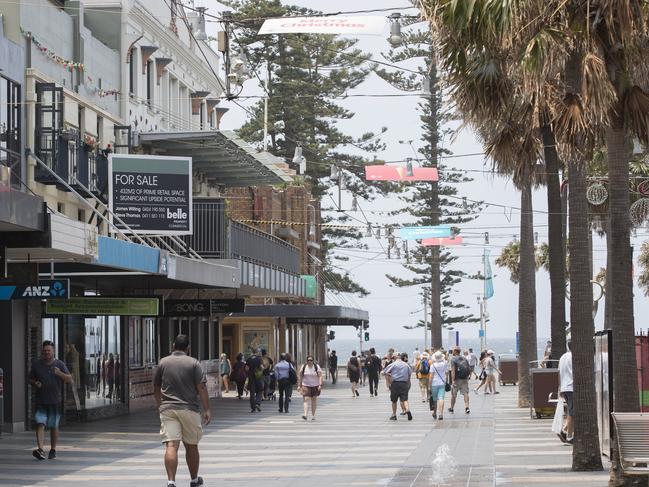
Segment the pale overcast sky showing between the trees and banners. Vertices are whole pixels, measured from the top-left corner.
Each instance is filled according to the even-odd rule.
[[[309,7],[323,12],[338,12],[350,10],[381,9],[404,7],[410,5],[407,0],[294,0],[291,2],[304,7]],[[222,10],[222,7],[214,7],[213,2],[203,1],[204,5],[210,7],[211,13]],[[201,2],[197,2],[201,5]],[[403,11],[401,11],[404,13]],[[410,13],[410,12],[409,12]],[[416,13],[416,10],[412,10]],[[389,12],[375,13],[371,15],[385,15]],[[365,14],[368,15],[368,14]],[[211,24],[209,28],[215,29]],[[212,33],[210,32],[210,35]],[[382,52],[387,52],[387,23],[384,36],[360,36],[358,47],[371,54],[372,58],[384,60]],[[404,65],[405,66],[405,65]],[[389,94],[398,93],[383,80],[371,75],[363,84],[353,92],[358,94]],[[262,94],[261,88],[256,81],[248,81],[244,85],[242,95]],[[419,126],[419,113],[417,111],[418,97],[401,98],[349,98],[341,104],[355,112],[355,116],[348,121],[340,123],[340,127],[350,134],[360,135],[368,131],[380,131],[381,127],[388,128],[383,140],[387,144],[385,153],[378,154],[384,160],[403,160],[406,157],[414,157],[412,148],[400,141],[413,140],[413,145],[418,147],[421,136]],[[245,102],[243,103],[246,104]],[[222,129],[235,130],[246,120],[246,113],[234,104],[224,104],[230,111],[222,120]],[[457,128],[453,126],[451,128]],[[495,258],[500,254],[502,248],[519,233],[520,193],[515,190],[512,183],[507,179],[494,176],[490,171],[490,162],[480,155],[483,148],[476,140],[470,129],[464,129],[456,134],[452,140],[445,138],[444,147],[449,149],[454,158],[448,161],[458,169],[471,171],[474,180],[470,183],[459,185],[460,196],[466,196],[472,200],[484,201],[485,205],[478,218],[472,222],[462,225],[466,245],[453,247],[452,252],[459,259],[454,263],[457,268],[473,274],[482,271],[482,253],[486,248],[491,252],[491,266],[494,271],[494,296],[488,300],[487,312],[489,315],[488,334],[493,338],[514,338],[518,328],[517,305],[518,287],[509,280],[509,272],[499,269],[495,265]],[[467,155],[465,154],[478,154]],[[308,165],[308,158],[307,158]],[[475,172],[473,172],[475,171]],[[327,200],[323,207],[328,206]],[[331,203],[331,201],[329,201]],[[378,198],[371,203],[359,201],[360,207],[364,210],[367,219],[372,223],[399,223],[407,220],[407,217],[389,218],[384,212],[403,207],[397,196],[390,198]],[[534,227],[538,233],[539,243],[547,242],[547,201],[545,192],[541,189],[534,193]],[[343,208],[350,208],[351,197],[345,195]],[[496,206],[498,205],[498,206]],[[332,205],[329,205],[332,206]],[[506,208],[503,208],[505,206]],[[360,212],[356,218],[363,219]],[[484,232],[489,232],[489,245],[484,244]],[[635,256],[642,242],[648,235],[646,229],[640,229],[638,236],[633,239],[632,245],[636,249]],[[370,333],[372,338],[419,338],[422,330],[406,330],[403,326],[413,325],[423,319],[423,303],[418,288],[396,288],[391,287],[385,277],[386,273],[400,277],[408,277],[408,271],[403,269],[401,262],[392,259],[388,260],[382,252],[382,247],[387,246],[387,241],[381,242],[375,238],[364,238],[363,243],[367,244],[369,250],[366,252],[340,251],[340,254],[349,257],[349,261],[341,262],[339,265],[348,269],[362,286],[368,289],[371,294],[366,298],[350,295],[330,296],[327,295],[327,304],[338,304],[345,306],[366,309],[370,313]],[[376,256],[376,257],[375,257]],[[375,257],[370,260],[371,257]],[[593,240],[593,268],[597,272],[600,267],[606,265],[606,242],[597,235]],[[637,268],[637,262],[636,262]],[[550,289],[549,276],[545,270],[539,270],[536,274],[537,290],[537,333],[539,338],[550,336]],[[452,293],[452,299],[470,306],[469,313],[479,315],[477,303],[478,296],[482,295],[483,283],[481,281],[465,280],[456,286]],[[647,324],[638,319],[649,311],[647,298],[642,291],[635,287],[635,316],[636,329],[647,329]],[[601,329],[603,324],[603,304],[600,303],[600,311],[595,319],[596,329]],[[568,312],[568,303],[567,303]],[[477,338],[477,324],[460,324],[455,327],[460,336]],[[336,338],[356,338],[356,331],[353,328],[337,327]]]

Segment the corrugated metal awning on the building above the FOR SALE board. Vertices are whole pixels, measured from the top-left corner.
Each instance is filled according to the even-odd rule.
[[[284,159],[258,152],[232,131],[147,132],[138,134],[145,152],[190,156],[194,173],[225,186],[258,186],[291,182],[295,171]]]

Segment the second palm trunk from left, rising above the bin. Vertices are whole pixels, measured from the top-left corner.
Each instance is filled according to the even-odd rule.
[[[541,117],[541,116],[540,116]],[[548,257],[550,270],[550,339],[552,360],[566,352],[566,256],[563,238],[559,156],[552,127],[541,123],[548,195]],[[554,362],[553,366],[556,367]]]

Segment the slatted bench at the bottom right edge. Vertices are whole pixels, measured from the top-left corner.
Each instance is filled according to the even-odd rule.
[[[649,414],[611,413],[625,475],[649,475]]]

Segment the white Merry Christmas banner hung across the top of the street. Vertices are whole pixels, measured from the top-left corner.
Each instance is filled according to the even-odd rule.
[[[383,35],[386,21],[386,17],[379,16],[283,17],[265,20],[257,35],[296,33]]]

